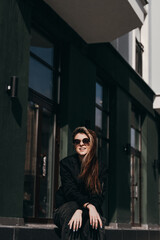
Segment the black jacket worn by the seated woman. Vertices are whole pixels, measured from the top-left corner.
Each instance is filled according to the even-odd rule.
[[[93,204],[97,211],[102,214],[102,202],[106,191],[106,168],[99,164],[99,180],[102,187],[101,194],[92,194],[86,189],[85,183],[82,179],[78,178],[81,170],[81,163],[77,154],[66,157],[60,161],[60,176],[61,187],[56,194],[56,207],[60,207],[65,202],[76,201],[79,207],[82,208],[83,204],[90,202]]]

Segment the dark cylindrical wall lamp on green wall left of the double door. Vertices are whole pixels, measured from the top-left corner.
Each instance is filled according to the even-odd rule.
[[[18,77],[12,76],[10,79],[10,84],[7,85],[7,93],[11,98],[16,98],[17,91],[18,91]]]

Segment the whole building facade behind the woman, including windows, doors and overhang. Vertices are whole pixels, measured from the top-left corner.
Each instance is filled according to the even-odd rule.
[[[108,169],[107,225],[159,225],[159,115],[143,41],[147,2],[115,2],[105,19],[109,4],[81,18],[84,5],[74,1],[72,9],[62,1],[1,1],[1,224],[52,223],[59,161],[73,153],[74,128],[86,126],[97,132],[99,161]],[[112,24],[99,29],[104,19]]]

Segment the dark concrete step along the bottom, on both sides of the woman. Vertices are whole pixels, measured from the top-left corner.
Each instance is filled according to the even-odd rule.
[[[0,226],[0,240],[60,240],[54,224]],[[106,229],[106,240],[160,240],[160,230]]]

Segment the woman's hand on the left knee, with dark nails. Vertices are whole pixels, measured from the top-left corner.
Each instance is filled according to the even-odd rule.
[[[78,231],[78,228],[82,226],[82,210],[78,209],[73,214],[71,220],[68,223],[69,228],[73,229],[73,232]]]

